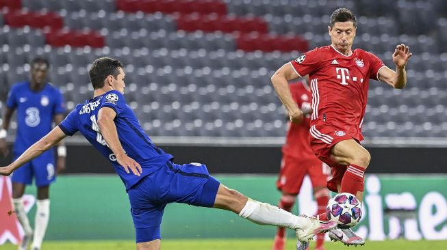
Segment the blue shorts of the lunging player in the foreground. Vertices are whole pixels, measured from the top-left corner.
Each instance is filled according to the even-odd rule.
[[[128,191],[136,242],[160,239],[166,204],[177,202],[211,208],[220,182],[200,163],[166,163]]]

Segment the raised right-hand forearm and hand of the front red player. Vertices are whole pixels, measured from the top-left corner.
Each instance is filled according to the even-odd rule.
[[[396,71],[383,67],[379,70],[377,77],[380,81],[383,81],[396,89],[403,89],[407,84],[407,72],[405,66],[413,55],[408,46],[405,44],[399,44],[396,46],[392,55],[394,64],[396,64]]]

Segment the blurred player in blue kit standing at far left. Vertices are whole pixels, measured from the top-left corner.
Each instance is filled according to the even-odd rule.
[[[6,143],[7,130],[10,125],[12,113],[17,109],[17,135],[14,143],[14,158],[18,158],[27,148],[36,143],[51,131],[51,124],[60,124],[64,120],[64,98],[59,89],[47,83],[49,62],[46,59],[36,58],[31,62],[31,81],[15,83],[10,89],[6,110],[3,116],[3,127],[0,130],[0,152],[8,155]],[[62,142],[58,147],[57,169],[65,168],[66,148]],[[55,181],[55,154],[53,150],[29,161],[12,175],[12,198],[18,221],[20,221],[25,236],[18,249],[27,249],[33,240],[32,249],[40,249],[49,221],[50,201],[49,185]],[[23,207],[22,196],[25,185],[36,179],[37,210],[34,232]]]

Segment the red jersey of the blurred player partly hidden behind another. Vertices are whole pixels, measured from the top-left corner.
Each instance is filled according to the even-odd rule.
[[[290,84],[292,96],[300,109],[309,109],[311,105],[311,92],[309,85],[302,82]],[[305,115],[301,124],[289,123],[289,130],[283,145],[283,154],[306,161],[316,156],[310,148],[309,142],[310,115]]]

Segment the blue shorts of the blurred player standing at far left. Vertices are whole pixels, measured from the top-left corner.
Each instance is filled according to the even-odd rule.
[[[14,161],[20,154],[14,155]],[[11,182],[31,184],[36,177],[36,186],[48,186],[55,181],[54,152],[47,151],[14,171]]]

